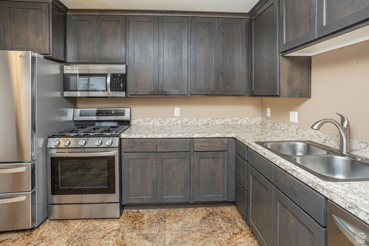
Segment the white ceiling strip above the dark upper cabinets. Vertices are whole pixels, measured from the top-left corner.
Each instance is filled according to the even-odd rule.
[[[61,0],[70,9],[179,10],[247,13],[258,0]]]

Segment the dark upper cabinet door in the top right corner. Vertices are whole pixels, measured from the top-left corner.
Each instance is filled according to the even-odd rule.
[[[317,37],[369,18],[367,0],[317,0]]]

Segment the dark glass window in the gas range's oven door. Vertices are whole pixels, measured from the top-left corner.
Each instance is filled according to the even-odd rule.
[[[51,157],[51,194],[115,194],[115,157]]]

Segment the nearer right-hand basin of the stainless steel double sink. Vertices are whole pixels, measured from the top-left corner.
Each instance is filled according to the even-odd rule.
[[[297,156],[293,160],[329,181],[369,181],[369,165],[349,157]]]

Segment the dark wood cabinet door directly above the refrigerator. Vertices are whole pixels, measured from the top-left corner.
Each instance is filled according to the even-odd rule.
[[[49,54],[49,4],[2,1],[3,46]]]

